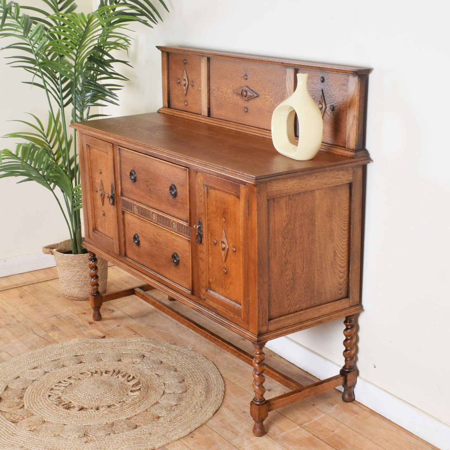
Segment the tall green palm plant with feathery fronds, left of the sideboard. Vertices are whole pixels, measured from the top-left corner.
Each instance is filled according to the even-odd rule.
[[[18,121],[28,131],[5,136],[23,142],[14,151],[0,151],[0,178],[19,177],[18,183],[36,181],[49,189],[67,223],[72,253],[79,254],[80,171],[69,125],[102,116],[95,107],[117,104],[127,80],[118,67],[129,65],[116,56],[130,47],[126,27],[152,27],[161,15],[148,0],[100,0],[90,14],[77,13],[74,0],[41,2],[36,7],[0,0],[0,38],[9,40],[4,49],[14,50],[9,64],[28,72],[24,83],[42,89],[49,108],[48,117],[31,114],[31,121]]]

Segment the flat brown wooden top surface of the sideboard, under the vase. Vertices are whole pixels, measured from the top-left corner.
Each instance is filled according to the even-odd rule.
[[[266,137],[158,112],[99,119],[73,126],[88,135],[114,138],[118,145],[153,148],[180,161],[211,170],[225,170],[250,180],[369,162],[365,152],[354,158],[323,151],[310,161],[296,161],[280,155]]]

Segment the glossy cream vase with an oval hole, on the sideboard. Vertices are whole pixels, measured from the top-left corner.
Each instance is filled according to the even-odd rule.
[[[272,142],[279,153],[306,161],[315,157],[322,144],[322,113],[308,92],[308,74],[297,73],[297,89],[272,114]],[[298,144],[295,114],[298,117]]]

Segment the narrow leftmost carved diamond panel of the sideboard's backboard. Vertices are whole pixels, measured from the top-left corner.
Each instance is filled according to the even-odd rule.
[[[170,108],[202,113],[200,56],[169,54],[169,104]]]

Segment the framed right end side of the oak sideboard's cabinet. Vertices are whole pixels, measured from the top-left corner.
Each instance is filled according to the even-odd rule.
[[[358,305],[361,171],[268,184],[269,331]]]

